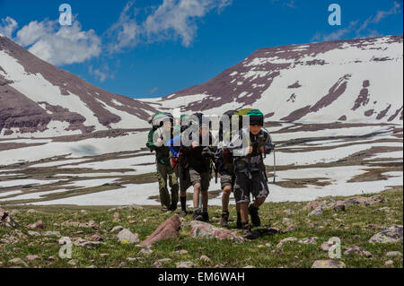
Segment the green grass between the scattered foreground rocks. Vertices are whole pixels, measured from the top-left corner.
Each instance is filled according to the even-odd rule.
[[[110,229],[121,225],[124,228],[139,234],[141,240],[150,235],[163,221],[171,217],[171,213],[161,212],[155,208],[143,210],[119,210],[119,220],[114,219],[114,212],[109,212],[108,207],[77,207],[77,206],[11,206],[5,205],[7,211],[18,210],[13,217],[20,222],[21,238],[13,234],[13,229],[0,226],[0,240],[13,235],[17,240],[4,244],[0,241],[0,267],[9,267],[10,259],[22,258],[30,267],[74,267],[67,264],[70,259],[58,257],[59,245],[56,237],[31,237],[25,225],[42,220],[46,224],[45,230],[60,231],[62,236],[69,238],[89,238],[98,233],[104,239],[104,245],[92,248],[73,247],[72,259],[77,259],[78,267],[95,265],[97,267],[118,267],[125,262],[127,267],[152,267],[154,262],[162,258],[171,258],[164,264],[166,267],[175,267],[180,261],[192,261],[197,267],[311,267],[318,259],[327,259],[328,253],[321,250],[321,243],[331,237],[338,237],[342,244],[342,257],[347,267],[386,267],[384,262],[392,259],[394,267],[402,267],[402,258],[390,258],[385,256],[389,251],[403,251],[402,243],[378,244],[368,243],[369,238],[378,231],[384,230],[393,224],[402,225],[403,201],[402,186],[385,191],[382,196],[387,200],[384,203],[373,206],[353,206],[345,212],[324,212],[318,217],[308,217],[310,211],[303,211],[306,203],[266,203],[260,208],[260,216],[263,226],[285,229],[283,218],[291,219],[295,230],[286,233],[264,236],[242,244],[236,244],[228,240],[189,237],[189,227],[183,223],[178,238],[171,238],[155,243],[153,253],[149,256],[138,255],[141,249],[133,245],[122,245],[116,238],[117,233],[111,233]],[[337,199],[337,198],[334,198]],[[380,210],[388,206],[390,212]],[[38,212],[26,212],[35,208]],[[86,210],[86,212],[80,212]],[[211,221],[218,226],[220,221],[219,207],[209,209]],[[286,212],[290,214],[285,214]],[[231,211],[231,229],[235,230],[235,211]],[[97,229],[63,226],[61,223],[71,219],[72,221],[96,221]],[[145,220],[145,221],[144,221]],[[191,220],[187,216],[185,221]],[[101,221],[105,221],[102,224]],[[129,223],[129,221],[136,221]],[[372,224],[372,225],[370,225]],[[307,238],[318,237],[316,245],[302,245],[297,242],[287,242],[280,249],[277,244],[282,238]],[[269,247],[266,244],[270,244]],[[373,258],[359,255],[345,256],[343,252],[352,246],[363,247],[373,254]],[[174,251],[185,249],[188,254],[175,254]],[[101,256],[109,254],[109,256]],[[40,259],[28,261],[25,256],[37,255]],[[55,260],[49,261],[48,257],[54,256]],[[200,256],[208,256],[209,262],[198,259]],[[140,257],[136,261],[127,261],[127,257]]]

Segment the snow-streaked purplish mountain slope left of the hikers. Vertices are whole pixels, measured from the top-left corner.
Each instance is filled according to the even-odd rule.
[[[101,90],[0,36],[0,136],[141,128],[156,110]]]

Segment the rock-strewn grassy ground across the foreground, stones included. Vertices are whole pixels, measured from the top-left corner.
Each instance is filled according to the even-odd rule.
[[[267,203],[255,239],[139,205],[5,206],[0,267],[402,267],[402,187],[379,195]],[[316,212],[321,208],[321,212]],[[334,240],[330,240],[334,238]],[[335,238],[340,257],[329,258]],[[71,246],[71,255],[66,247]]]

